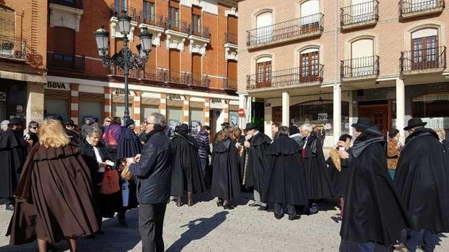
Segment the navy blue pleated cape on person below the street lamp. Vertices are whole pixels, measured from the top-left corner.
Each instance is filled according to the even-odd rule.
[[[135,157],[142,152],[142,144],[136,133],[130,128],[123,127],[118,141],[117,159]]]

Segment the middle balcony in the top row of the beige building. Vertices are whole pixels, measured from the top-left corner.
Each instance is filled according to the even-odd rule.
[[[340,8],[341,29],[349,30],[377,23],[379,2],[377,0]]]

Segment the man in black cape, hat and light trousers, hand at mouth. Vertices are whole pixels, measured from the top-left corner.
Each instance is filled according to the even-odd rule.
[[[247,165],[245,167],[244,182],[247,188],[254,188],[254,202],[248,206],[259,206],[259,210],[265,210],[266,204],[261,202],[262,197],[260,194],[266,188],[265,176],[269,168],[266,150],[271,143],[271,138],[258,131],[253,123],[246,124],[245,132],[246,141],[244,146],[247,148],[248,156],[247,160],[245,160]]]

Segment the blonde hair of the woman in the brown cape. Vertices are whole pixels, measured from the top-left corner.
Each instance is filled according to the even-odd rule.
[[[53,119],[45,120],[39,128],[39,143],[45,147],[58,148],[70,143],[62,124]]]

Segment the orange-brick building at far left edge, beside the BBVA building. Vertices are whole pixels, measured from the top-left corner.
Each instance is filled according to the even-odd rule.
[[[42,120],[47,1],[0,1],[0,121]]]

